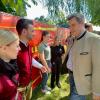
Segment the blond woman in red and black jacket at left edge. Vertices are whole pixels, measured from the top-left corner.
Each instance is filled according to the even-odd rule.
[[[10,62],[17,58],[19,38],[15,33],[0,30],[0,100],[22,100],[17,92],[18,67]]]

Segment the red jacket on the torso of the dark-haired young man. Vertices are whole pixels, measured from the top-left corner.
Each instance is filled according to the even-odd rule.
[[[17,57],[19,67],[19,84],[27,86],[31,80],[32,52],[31,47],[20,42],[21,50]]]

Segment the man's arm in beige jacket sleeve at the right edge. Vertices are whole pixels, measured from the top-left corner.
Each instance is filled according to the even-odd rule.
[[[93,100],[100,100],[100,37],[92,43],[92,90]]]

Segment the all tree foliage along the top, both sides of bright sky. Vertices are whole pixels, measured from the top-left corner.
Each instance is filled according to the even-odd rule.
[[[29,0],[0,0],[0,11],[13,15],[26,16],[26,8],[31,7]],[[65,16],[83,13],[88,22],[100,25],[100,0],[31,0],[34,5],[40,2],[48,9],[48,17],[43,22],[65,24]],[[61,14],[63,12],[63,14]],[[64,15],[64,16],[63,16]],[[41,18],[40,18],[41,19]],[[64,25],[65,27],[66,25]]]

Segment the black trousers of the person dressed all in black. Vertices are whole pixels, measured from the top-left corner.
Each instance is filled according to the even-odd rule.
[[[60,71],[62,66],[62,59],[57,58],[54,62],[52,62],[51,68],[51,87],[54,86],[54,83],[59,83],[60,80]]]

